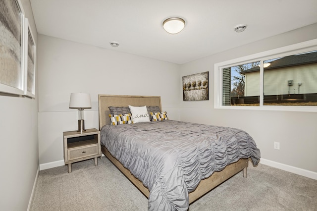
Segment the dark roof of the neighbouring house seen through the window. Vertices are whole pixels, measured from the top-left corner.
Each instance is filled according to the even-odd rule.
[[[269,63],[270,65],[268,67],[265,67],[264,70],[317,63],[317,51],[304,53],[304,54],[295,54],[295,55],[285,56],[273,61],[269,61]],[[244,74],[244,73],[256,72],[256,71],[260,71],[259,66],[247,69],[245,71],[241,71],[241,73]]]

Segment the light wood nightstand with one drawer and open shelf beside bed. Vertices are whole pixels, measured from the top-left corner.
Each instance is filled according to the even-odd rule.
[[[101,157],[100,131],[93,128],[84,132],[66,131],[64,137],[64,161],[68,165],[68,173],[71,172],[71,164],[81,160],[95,158],[98,165],[98,157]]]

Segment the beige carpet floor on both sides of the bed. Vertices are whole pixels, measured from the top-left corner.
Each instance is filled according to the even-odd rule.
[[[105,157],[39,173],[32,211],[147,211],[147,198]],[[263,164],[248,167],[189,211],[317,211],[317,180]]]

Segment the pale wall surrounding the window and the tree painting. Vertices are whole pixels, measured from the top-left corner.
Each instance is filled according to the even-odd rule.
[[[213,108],[214,63],[260,53],[317,38],[317,24],[269,39],[211,55],[181,66],[180,77],[209,71],[210,100],[183,102],[181,90],[180,116],[183,121],[241,128],[247,131],[261,150],[264,163],[280,163],[300,168],[317,179],[317,113],[287,111],[230,110]],[[181,87],[181,83],[179,84]],[[280,150],[273,149],[280,142]],[[271,162],[272,161],[272,162]]]

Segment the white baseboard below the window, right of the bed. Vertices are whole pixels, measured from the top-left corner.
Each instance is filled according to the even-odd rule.
[[[306,170],[306,169],[303,169],[303,168],[298,168],[298,167],[294,167],[294,166],[291,166],[291,165],[286,165],[286,164],[283,164],[283,163],[279,163],[279,162],[275,162],[275,161],[271,161],[271,160],[263,159],[263,158],[261,158],[260,163],[264,164],[264,165],[268,165],[268,166],[274,167],[274,168],[279,168],[279,169],[282,169],[284,171],[288,171],[288,172],[291,172],[291,173],[294,173],[294,174],[299,174],[301,176],[306,176],[308,178],[312,178],[312,179],[316,179],[317,180],[317,172],[314,172],[314,171],[309,171],[309,170]]]

